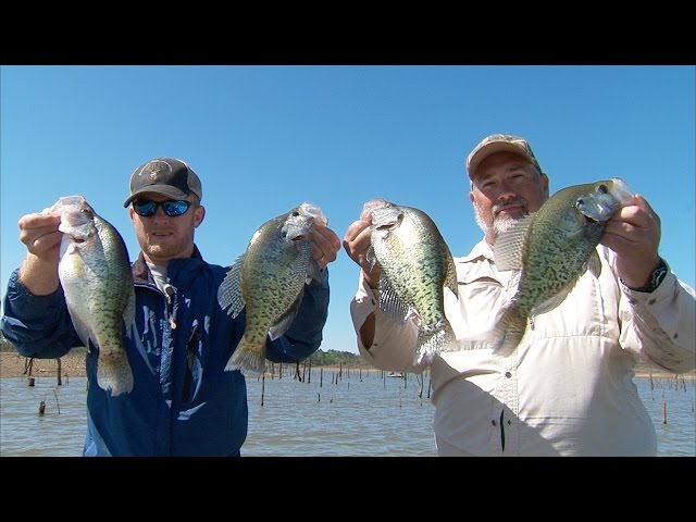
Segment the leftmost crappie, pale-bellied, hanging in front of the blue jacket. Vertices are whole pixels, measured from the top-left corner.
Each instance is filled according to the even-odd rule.
[[[130,262],[119,232],[82,196],[60,198],[45,212],[60,213],[59,278],[77,335],[99,349],[97,383],[116,396],[133,389],[123,346],[135,319]]]

